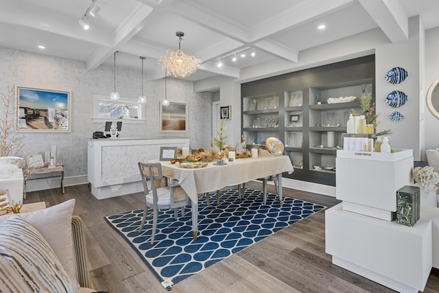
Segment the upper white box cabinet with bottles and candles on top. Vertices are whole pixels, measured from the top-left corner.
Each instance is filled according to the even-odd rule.
[[[343,208],[392,221],[396,191],[412,184],[412,150],[394,153],[337,151],[337,194]]]

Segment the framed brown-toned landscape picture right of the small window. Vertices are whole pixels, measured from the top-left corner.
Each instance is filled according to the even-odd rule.
[[[187,132],[187,104],[160,103],[160,132]]]

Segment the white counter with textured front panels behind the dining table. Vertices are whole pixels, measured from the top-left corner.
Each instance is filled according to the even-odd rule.
[[[160,147],[189,147],[182,138],[112,138],[88,142],[88,182],[97,199],[112,198],[143,191],[140,159],[158,159]]]

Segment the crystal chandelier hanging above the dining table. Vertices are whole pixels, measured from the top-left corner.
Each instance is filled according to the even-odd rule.
[[[158,58],[158,64],[162,66],[164,71],[176,78],[187,78],[197,71],[202,61],[195,56],[186,55],[180,49],[182,36],[185,36],[185,33],[176,32],[176,36],[178,36],[178,50],[167,51],[165,56]]]

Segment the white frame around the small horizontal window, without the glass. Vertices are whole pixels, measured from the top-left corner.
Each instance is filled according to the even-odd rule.
[[[111,118],[99,117],[99,102],[137,104],[137,117],[139,118]],[[93,123],[102,123],[104,121],[117,120],[123,121],[123,124],[145,124],[145,104],[137,102],[137,97],[122,97],[117,101],[110,99],[110,95],[93,94]]]

